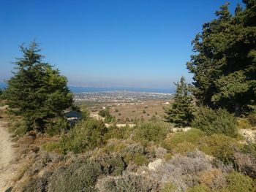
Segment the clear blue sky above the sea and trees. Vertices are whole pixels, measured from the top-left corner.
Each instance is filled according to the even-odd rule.
[[[191,41],[225,2],[0,0],[0,82],[12,75],[18,45],[33,39],[69,85],[167,88],[181,75],[191,82]]]

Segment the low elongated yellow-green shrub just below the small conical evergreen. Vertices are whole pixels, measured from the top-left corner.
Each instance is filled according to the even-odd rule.
[[[203,131],[199,129],[192,128],[187,132],[177,132],[173,134],[169,134],[165,141],[163,142],[163,146],[172,151],[178,144],[183,142],[190,142],[194,145],[197,145],[200,138],[204,136]]]

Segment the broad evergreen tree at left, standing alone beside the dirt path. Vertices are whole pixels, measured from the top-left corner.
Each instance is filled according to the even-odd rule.
[[[21,45],[20,50],[23,58],[15,61],[14,76],[7,81],[4,94],[12,112],[22,115],[28,128],[42,130],[46,120],[60,116],[72,105],[72,93],[67,78],[42,62],[36,42],[30,47]]]

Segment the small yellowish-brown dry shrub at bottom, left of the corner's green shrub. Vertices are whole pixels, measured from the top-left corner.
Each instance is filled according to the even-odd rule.
[[[211,169],[200,172],[200,183],[208,186],[211,190],[221,189],[226,185],[225,175],[219,169]]]

